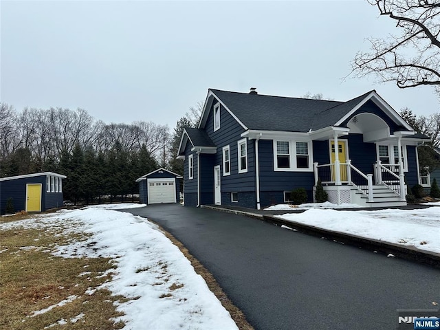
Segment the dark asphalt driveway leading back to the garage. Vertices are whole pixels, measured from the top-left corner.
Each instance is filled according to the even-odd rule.
[[[440,270],[249,217],[162,204],[122,210],[184,243],[260,329],[396,329],[397,309],[437,309]]]

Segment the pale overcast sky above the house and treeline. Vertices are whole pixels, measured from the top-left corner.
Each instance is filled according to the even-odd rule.
[[[0,100],[171,129],[208,88],[439,111],[430,87],[348,78],[369,36],[397,32],[366,1],[0,1]]]

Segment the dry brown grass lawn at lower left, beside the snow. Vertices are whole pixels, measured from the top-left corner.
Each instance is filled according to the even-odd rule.
[[[5,217],[2,222],[26,217]],[[55,245],[71,239],[82,237],[24,228],[0,232],[0,329],[110,330],[124,326],[111,321],[121,315],[113,303],[124,298],[111,296],[105,289],[94,291],[111,277],[109,259],[50,254]],[[50,310],[39,312],[45,309]]]

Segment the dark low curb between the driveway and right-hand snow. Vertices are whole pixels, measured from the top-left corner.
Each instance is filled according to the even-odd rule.
[[[423,263],[425,265],[430,265],[432,267],[440,268],[440,254],[419,250],[411,246],[379,241],[377,239],[366,239],[365,237],[362,236],[346,234],[344,232],[336,232],[333,230],[326,230],[315,227],[313,225],[305,225],[304,223],[287,221],[285,219],[274,217],[272,215],[259,214],[259,213],[254,213],[252,211],[234,210],[230,208],[221,208],[217,206],[201,206],[201,207],[210,208],[212,210],[219,210],[221,212],[228,212],[232,214],[242,214],[248,217],[252,217],[254,219],[259,219],[261,221],[273,223],[274,225],[285,225],[289,228],[298,230],[299,232],[303,232],[308,235],[318,236],[325,239],[331,239],[338,243],[354,245],[359,248],[380,252],[386,255],[393,254],[393,256],[397,258],[415,261],[417,263]]]

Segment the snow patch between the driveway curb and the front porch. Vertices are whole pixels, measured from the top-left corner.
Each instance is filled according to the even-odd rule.
[[[439,205],[439,203],[437,203]],[[288,221],[440,253],[440,207],[376,211],[310,209],[277,215]]]

